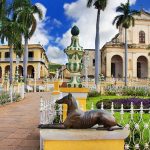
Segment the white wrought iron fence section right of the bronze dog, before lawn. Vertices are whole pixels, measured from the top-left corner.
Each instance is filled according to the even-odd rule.
[[[105,109],[103,103],[101,109]],[[140,108],[134,109],[131,102],[130,109],[124,109],[123,104],[120,109],[115,109],[112,102],[111,108],[107,110],[116,117],[120,125],[130,130],[130,135],[125,140],[125,150],[150,150],[150,108],[144,109],[141,102]]]

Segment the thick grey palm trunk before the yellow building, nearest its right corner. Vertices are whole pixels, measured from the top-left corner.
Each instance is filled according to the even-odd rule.
[[[24,58],[23,58],[23,76],[24,83],[27,83],[27,64],[28,64],[28,38],[25,38]]]

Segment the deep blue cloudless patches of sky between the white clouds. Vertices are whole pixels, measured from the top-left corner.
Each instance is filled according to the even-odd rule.
[[[32,0],[33,3],[41,3],[47,8],[47,16],[51,19],[59,20],[63,25],[59,28],[53,28],[51,35],[62,36],[71,26],[72,20],[67,18],[64,12],[64,4],[76,2],[77,0]],[[135,5],[132,6],[134,9],[144,8],[150,10],[149,0],[137,0]],[[52,26],[51,22],[47,24],[47,28]]]

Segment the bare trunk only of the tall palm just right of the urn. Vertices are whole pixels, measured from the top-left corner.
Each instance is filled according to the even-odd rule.
[[[95,37],[95,84],[98,90],[100,73],[100,9],[97,11],[96,37]]]

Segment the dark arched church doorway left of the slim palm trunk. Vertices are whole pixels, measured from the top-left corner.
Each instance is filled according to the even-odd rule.
[[[123,77],[123,60],[119,55],[114,55],[111,58],[111,75],[114,78]]]

